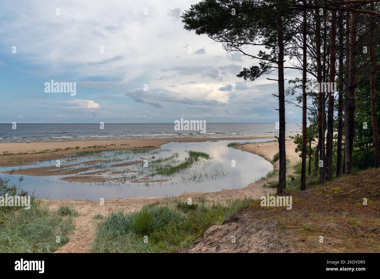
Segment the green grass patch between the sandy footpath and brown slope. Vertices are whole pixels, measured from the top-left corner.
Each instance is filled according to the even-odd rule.
[[[187,201],[169,199],[145,205],[135,212],[115,211],[98,221],[91,251],[174,252],[250,202],[250,199],[237,199],[226,205],[188,205]]]

